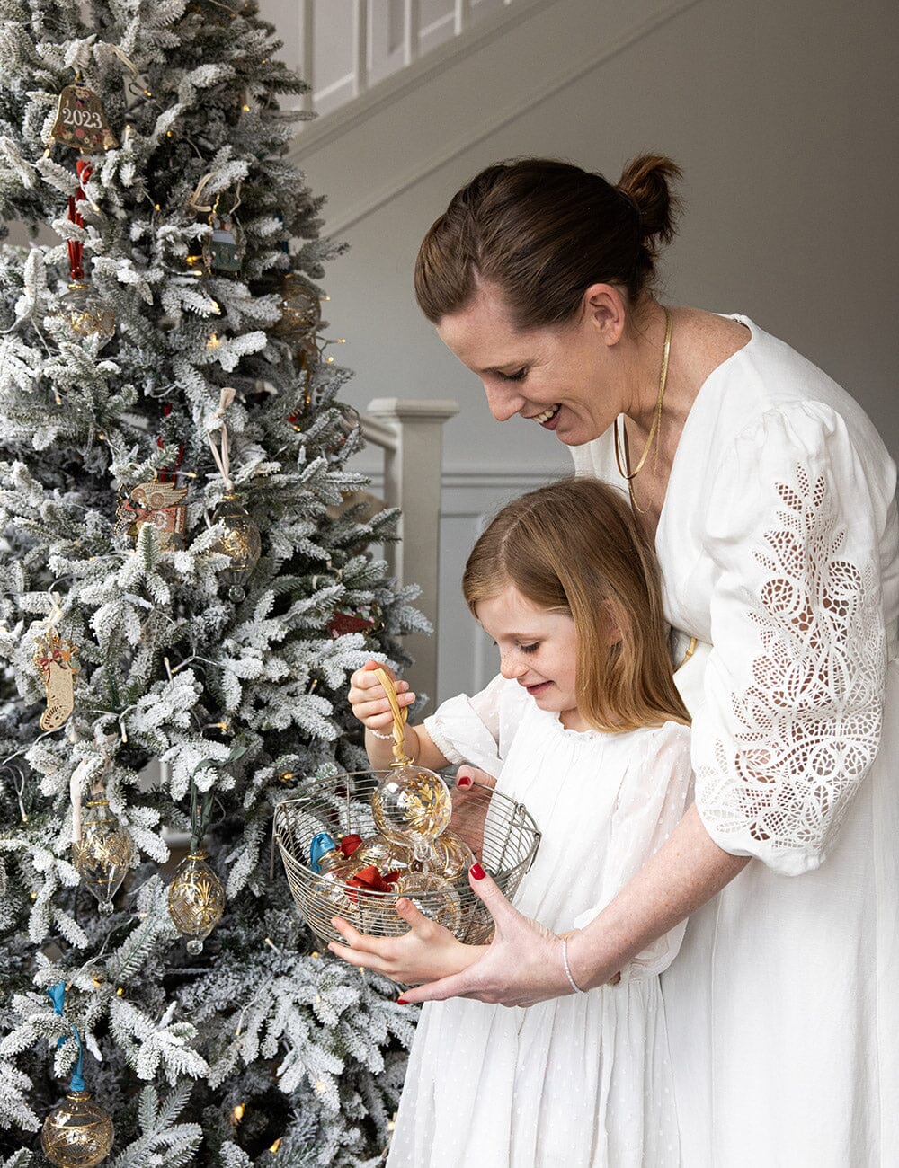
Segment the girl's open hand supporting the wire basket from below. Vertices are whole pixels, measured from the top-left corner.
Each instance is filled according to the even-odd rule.
[[[357,932],[341,917],[334,917],[331,923],[346,945],[331,941],[327,947],[350,965],[383,973],[404,986],[458,973],[476,961],[486,947],[463,945],[448,929],[429,920],[407,897],[396,902],[396,912],[412,926],[402,937],[369,937]]]

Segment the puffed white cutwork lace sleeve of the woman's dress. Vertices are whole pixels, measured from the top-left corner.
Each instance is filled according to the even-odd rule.
[[[892,500],[823,405],[766,416],[731,453],[706,523],[714,648],[696,801],[721,848],[795,875],[823,861],[877,753]]]

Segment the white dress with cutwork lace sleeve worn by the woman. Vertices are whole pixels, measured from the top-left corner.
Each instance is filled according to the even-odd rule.
[[[712,839],[758,857],[662,979],[686,1168],[899,1164],[895,468],[862,409],[746,318],[675,458],[665,609],[711,645]],[[573,451],[624,484],[610,434]]]

